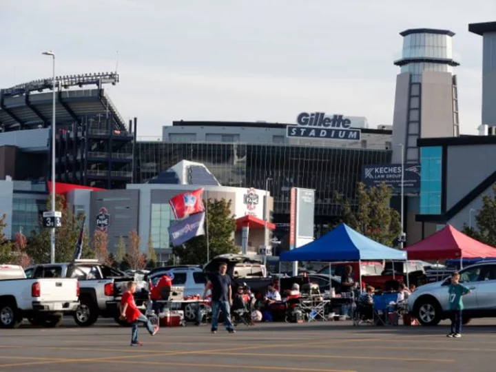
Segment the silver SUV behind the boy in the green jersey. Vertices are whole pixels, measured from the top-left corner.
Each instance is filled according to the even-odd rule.
[[[471,318],[496,316],[496,261],[485,261],[459,271],[460,282],[471,290],[464,296],[464,324]],[[424,325],[448,318],[448,285],[441,282],[417,288],[409,298],[409,311]]]

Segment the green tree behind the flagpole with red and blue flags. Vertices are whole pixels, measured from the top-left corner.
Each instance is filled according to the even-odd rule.
[[[234,254],[238,249],[234,245],[236,220],[231,214],[231,200],[207,200],[209,256]],[[185,242],[183,247],[174,247],[174,254],[182,264],[200,265],[207,261],[207,236],[196,236]]]

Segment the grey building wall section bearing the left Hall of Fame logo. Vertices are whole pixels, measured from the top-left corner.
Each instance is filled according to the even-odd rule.
[[[115,252],[119,237],[123,237],[127,244],[130,231],[138,231],[140,212],[140,197],[138,190],[112,190],[91,193],[91,214],[88,216],[90,236],[96,229],[96,216],[99,210],[105,207],[110,215],[110,225],[107,229],[108,250]],[[148,238],[148,237],[146,237]],[[143,240],[143,236],[141,236]],[[141,242],[146,247],[146,242]]]

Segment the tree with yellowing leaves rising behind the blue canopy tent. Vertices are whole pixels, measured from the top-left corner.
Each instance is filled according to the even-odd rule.
[[[376,242],[393,247],[402,231],[400,214],[389,206],[392,195],[393,190],[385,183],[369,188],[358,183],[355,205],[336,195],[341,204],[342,222]]]

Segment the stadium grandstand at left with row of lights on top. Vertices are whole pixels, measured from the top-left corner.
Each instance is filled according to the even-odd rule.
[[[48,128],[55,89],[56,179],[105,189],[125,188],[132,182],[136,118],[127,126],[103,89],[118,81],[116,72],[104,72],[56,76],[55,83],[39,79],[1,89],[0,155],[4,147],[5,156],[0,159],[0,169],[2,162],[9,161],[9,175],[14,179],[49,178],[52,131]],[[19,161],[12,162],[12,157]],[[25,164],[30,157],[36,161],[32,169],[29,165],[27,171],[12,169],[12,163]]]

